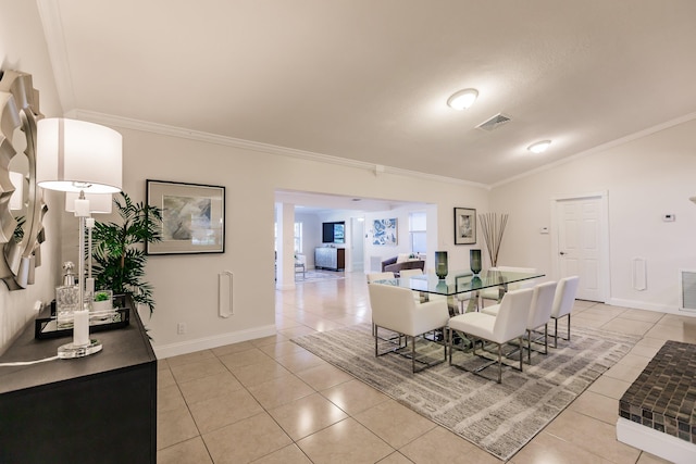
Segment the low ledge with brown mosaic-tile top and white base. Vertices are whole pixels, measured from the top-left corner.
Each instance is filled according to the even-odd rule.
[[[696,463],[696,344],[668,340],[619,401],[617,438]]]

